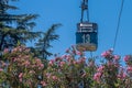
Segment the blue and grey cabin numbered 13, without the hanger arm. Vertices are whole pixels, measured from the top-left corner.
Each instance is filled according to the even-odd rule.
[[[96,51],[98,47],[97,23],[81,22],[77,24],[76,48],[80,52]]]

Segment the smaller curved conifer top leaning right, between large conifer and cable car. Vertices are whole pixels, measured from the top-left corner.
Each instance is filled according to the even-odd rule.
[[[59,35],[55,34],[55,31],[57,28],[59,28],[62,24],[53,24],[46,32],[43,33],[42,37],[38,38],[38,42],[35,44],[36,53],[38,54],[40,58],[47,58],[47,56],[53,55],[47,50],[50,47],[53,47],[51,45],[51,42],[58,40]]]

